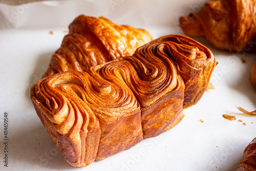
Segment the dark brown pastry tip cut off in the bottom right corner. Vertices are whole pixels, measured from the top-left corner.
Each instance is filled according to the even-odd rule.
[[[242,159],[239,162],[237,171],[256,170],[256,138],[245,148]]]

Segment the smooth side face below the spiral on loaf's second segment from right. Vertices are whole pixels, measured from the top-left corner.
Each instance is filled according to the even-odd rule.
[[[144,138],[155,137],[172,129],[184,117],[184,84],[181,83],[174,92],[170,92],[154,105],[142,109],[142,127]]]

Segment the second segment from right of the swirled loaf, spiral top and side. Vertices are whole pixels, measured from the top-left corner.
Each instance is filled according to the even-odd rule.
[[[169,124],[179,115],[183,116],[184,83],[174,63],[156,53],[127,56],[91,69],[93,76],[98,73],[102,78],[125,84],[132,90],[141,104],[145,138],[167,131]]]

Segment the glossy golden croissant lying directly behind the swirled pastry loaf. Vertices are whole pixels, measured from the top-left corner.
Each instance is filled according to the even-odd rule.
[[[143,29],[119,26],[104,17],[80,15],[70,24],[69,34],[52,55],[42,77],[70,70],[87,72],[90,67],[134,54],[152,39]]]

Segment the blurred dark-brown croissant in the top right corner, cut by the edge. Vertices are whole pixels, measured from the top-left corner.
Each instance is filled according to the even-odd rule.
[[[256,1],[210,1],[198,12],[180,18],[187,36],[206,37],[229,51],[255,51]]]

